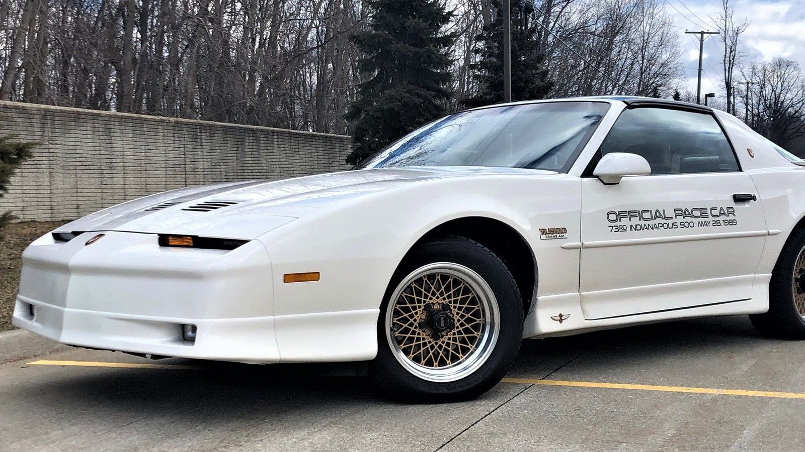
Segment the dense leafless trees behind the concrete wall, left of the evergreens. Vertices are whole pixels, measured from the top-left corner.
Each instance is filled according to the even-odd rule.
[[[0,99],[345,133],[359,0],[0,0]]]

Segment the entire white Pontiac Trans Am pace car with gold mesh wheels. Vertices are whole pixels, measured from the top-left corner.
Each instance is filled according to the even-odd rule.
[[[23,254],[14,325],[244,363],[371,360],[456,401],[522,338],[723,314],[805,339],[805,162],[737,118],[640,97],[433,121],[353,171],[122,203]]]

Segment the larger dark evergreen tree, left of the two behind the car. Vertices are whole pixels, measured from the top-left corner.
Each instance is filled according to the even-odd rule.
[[[365,81],[350,106],[355,164],[420,125],[446,114],[451,96],[443,29],[452,17],[435,0],[368,0],[368,30],[353,36]]]

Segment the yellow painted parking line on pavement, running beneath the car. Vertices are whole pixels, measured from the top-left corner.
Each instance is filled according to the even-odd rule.
[[[60,361],[60,360],[38,360],[33,361],[32,365],[38,366],[79,366],[89,368],[146,368],[146,369],[175,369],[175,370],[198,370],[199,366],[188,366],[184,364],[147,364],[147,363],[103,363],[97,361]],[[537,380],[534,378],[504,378],[503,383],[521,384],[543,384],[547,386],[571,386],[575,388],[607,388],[607,389],[626,389],[637,391],[660,391],[660,392],[687,392],[690,394],[717,394],[721,396],[745,396],[745,397],[774,397],[779,399],[805,399],[803,392],[776,392],[776,391],[749,391],[746,389],[717,389],[717,388],[692,388],[688,386],[658,386],[654,384],[626,384],[626,383],[604,383],[598,381],[570,381],[570,380]]]

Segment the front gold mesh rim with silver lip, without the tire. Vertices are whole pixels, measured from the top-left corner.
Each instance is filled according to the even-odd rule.
[[[460,380],[489,358],[498,318],[494,294],[478,273],[439,262],[416,269],[394,291],[386,337],[409,372],[430,381]]]

